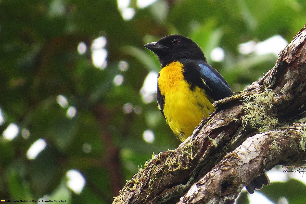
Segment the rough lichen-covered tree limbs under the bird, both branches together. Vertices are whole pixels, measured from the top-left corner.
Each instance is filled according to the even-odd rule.
[[[302,28],[273,69],[216,102],[185,142],[147,161],[113,203],[233,203],[263,171],[304,165],[306,124],[296,121],[306,115],[305,61]]]

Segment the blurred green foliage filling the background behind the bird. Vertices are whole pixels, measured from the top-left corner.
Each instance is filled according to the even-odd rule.
[[[290,42],[306,23],[304,0],[157,0],[145,8],[131,0],[129,7],[135,15],[124,20],[115,0],[0,1],[0,130],[12,123],[19,128],[11,141],[0,137],[1,199],[110,203],[152,152],[177,147],[155,98],[142,100],[148,72],[160,69],[145,43],[186,35],[233,91],[241,91],[271,69],[277,56],[241,54],[238,45],[274,35]],[[106,39],[103,69],[91,57],[91,43],[99,37]],[[80,42],[84,53],[78,52]],[[224,50],[223,61],[211,59],[216,47]],[[122,61],[127,70],[118,69]],[[116,76],[122,84],[114,84]],[[59,95],[67,105],[59,105]],[[71,107],[75,115],[67,115]],[[143,139],[147,129],[154,133],[153,143]],[[28,159],[38,139],[47,147]],[[86,180],[79,194],[66,185],[70,169]],[[264,194],[275,203],[281,196],[302,203],[305,190],[293,189],[305,185],[294,182],[272,184]]]

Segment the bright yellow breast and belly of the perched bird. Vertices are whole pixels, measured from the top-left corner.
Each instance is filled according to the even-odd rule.
[[[215,108],[205,91],[191,85],[184,79],[180,62],[172,62],[159,72],[158,86],[165,97],[163,112],[167,123],[178,139],[189,137],[203,117],[208,117]]]

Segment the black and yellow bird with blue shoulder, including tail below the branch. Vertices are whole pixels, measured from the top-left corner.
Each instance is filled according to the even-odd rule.
[[[213,103],[233,92],[192,39],[180,34],[167,35],[144,47],[157,55],[162,67],[157,77],[158,108],[183,142],[203,118],[214,112]],[[246,188],[252,194],[263,184],[270,184],[266,174],[256,177]]]

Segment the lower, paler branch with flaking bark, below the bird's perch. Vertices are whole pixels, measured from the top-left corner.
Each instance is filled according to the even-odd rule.
[[[210,172],[189,188],[182,203],[234,203],[245,184],[276,165],[304,165],[300,145],[305,123],[259,133],[227,154]]]

